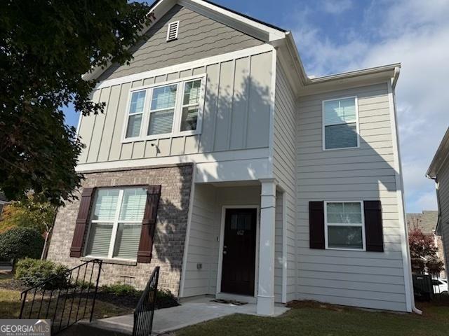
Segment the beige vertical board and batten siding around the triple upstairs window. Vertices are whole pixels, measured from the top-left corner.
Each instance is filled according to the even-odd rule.
[[[79,137],[86,148],[79,165],[268,148],[272,73],[267,69],[272,69],[271,51],[133,82],[124,78],[121,84],[95,90],[93,101],[105,102],[105,113],[81,117]],[[130,88],[203,73],[207,80],[201,134],[122,143]],[[146,130],[147,125],[142,127]],[[215,161],[213,155],[210,161]]]

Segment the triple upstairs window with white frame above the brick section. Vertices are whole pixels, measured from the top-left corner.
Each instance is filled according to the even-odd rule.
[[[206,75],[130,92],[123,141],[199,134]]]

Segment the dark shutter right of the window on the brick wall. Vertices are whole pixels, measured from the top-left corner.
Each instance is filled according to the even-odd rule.
[[[138,262],[149,263],[152,260],[153,237],[156,228],[157,208],[161,197],[161,186],[148,186],[147,203],[142,221],[142,232],[138,250]]]

